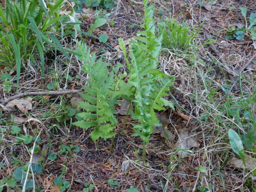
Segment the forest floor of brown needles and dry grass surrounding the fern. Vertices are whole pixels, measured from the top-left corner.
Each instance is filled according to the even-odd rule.
[[[120,50],[116,49],[119,44],[118,38],[126,41],[142,30],[140,25],[143,24],[144,6],[141,3],[119,0],[111,11],[107,11],[114,25],[112,27],[108,21],[100,30],[107,34],[108,44],[113,49],[90,37],[86,39],[92,53],[95,52],[97,57],[105,55],[104,60],[109,62],[110,70],[116,67],[117,62],[124,66],[119,68],[117,73],[120,74],[126,70],[126,63],[122,53],[118,52]],[[250,13],[256,10],[256,2],[254,0],[205,1],[200,6],[198,1],[156,0],[155,6],[157,22],[162,17],[169,18],[171,15],[181,23],[184,14],[188,11],[192,16],[192,19],[187,21],[189,25],[198,28],[205,20],[195,41],[200,45],[211,36],[213,36],[212,40],[217,40],[213,44],[200,47],[193,53],[196,56],[194,64],[187,59],[187,53],[179,55],[170,50],[160,55],[161,70],[175,76],[173,85],[175,89],[171,89],[167,97],[174,103],[175,110],[167,108],[159,114],[160,122],[165,124],[165,132],[169,137],[164,133],[163,127],[155,128],[149,144],[146,144],[146,170],[144,170],[140,166],[142,141],[139,137],[131,137],[132,124],[136,123],[132,118],[128,117],[124,133],[120,135],[126,114],[123,113],[124,105],[116,106],[118,124],[115,128],[117,134],[113,140],[113,150],[110,150],[111,139],[102,139],[98,141],[96,151],[96,143],[89,135],[91,129],[84,130],[71,125],[76,118],[66,114],[67,108],[76,107],[72,98],[79,100],[78,93],[31,96],[37,101],[35,110],[27,115],[17,111],[16,115],[22,116],[24,120],[16,125],[21,126],[23,134],[29,133],[33,136],[40,132],[41,141],[38,143],[40,151],[33,155],[32,161],[41,162],[43,167],[43,172],[36,174],[34,178],[35,185],[42,191],[60,191],[60,187],[54,185],[53,179],[61,174],[64,166],[67,171],[63,179],[71,183],[66,189],[67,192],[82,191],[86,182],[93,185],[92,191],[95,192],[125,192],[131,187],[137,188],[140,192],[249,192],[256,188],[252,171],[255,166],[248,166],[247,170],[241,167],[240,157],[231,149],[228,138],[229,129],[239,132],[238,130],[243,127],[248,131],[248,124],[252,123],[244,113],[248,108],[253,113],[253,102],[249,107],[244,107],[243,100],[255,97],[253,94],[256,61],[252,60],[249,65],[247,63],[253,59],[256,47],[248,33],[243,40],[238,41],[235,38],[227,40],[225,39],[227,31],[222,30],[230,26],[243,27],[245,20],[238,8],[246,7],[249,18]],[[230,10],[229,8],[233,6],[235,8]],[[84,30],[86,31],[86,28]],[[69,39],[69,37],[64,39],[67,45],[70,43]],[[128,41],[127,49],[129,50]],[[56,82],[56,89],[53,91],[80,90],[80,93],[83,93],[81,85],[86,82],[85,75],[74,56],[70,55],[71,62],[69,62],[61,52],[58,52],[57,61],[54,61],[54,55],[51,54],[53,53],[45,56],[43,77],[37,69],[29,65],[25,66],[26,71],[21,74],[18,91],[48,91],[47,85]],[[244,66],[246,68],[243,68]],[[240,72],[242,75],[239,78]],[[70,78],[67,78],[67,74]],[[77,75],[80,77],[76,78]],[[1,90],[3,100],[16,94],[15,89],[4,92],[1,87]],[[236,114],[238,111],[239,115],[232,116],[232,111]],[[3,114],[2,118],[4,123],[8,118],[11,119],[7,114]],[[55,128],[56,124],[60,127]],[[15,137],[8,133],[2,133],[0,142],[2,145],[0,179],[2,179],[13,175],[13,171],[19,166],[17,164],[14,166],[17,159],[23,164],[30,161],[28,148],[33,144],[31,143],[30,146],[17,143]],[[180,143],[191,151],[184,152],[186,155],[175,152],[174,149]],[[64,144],[79,146],[80,151],[75,152],[72,149],[72,156],[70,153],[61,153],[60,145]],[[54,161],[47,158],[49,154],[54,153],[57,154]],[[253,150],[247,150],[245,156],[254,157],[254,154]],[[128,170],[123,172],[122,163],[127,160],[131,160],[130,165]],[[253,164],[252,161],[250,162]],[[118,185],[110,185],[109,179],[117,181]],[[18,191],[18,189],[18,187],[8,188],[8,191]]]

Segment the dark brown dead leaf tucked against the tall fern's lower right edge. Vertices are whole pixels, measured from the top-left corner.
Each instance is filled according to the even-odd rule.
[[[161,137],[164,137],[170,141],[175,139],[175,135],[168,130],[168,124],[170,119],[166,117],[166,113],[162,111],[156,111],[156,117],[163,126],[153,126],[154,133],[161,133]]]

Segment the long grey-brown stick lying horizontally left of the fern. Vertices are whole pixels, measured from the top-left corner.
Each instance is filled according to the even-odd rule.
[[[7,98],[6,100],[0,100],[0,103],[5,103],[10,100],[14,100],[20,97],[24,97],[27,95],[64,95],[64,94],[71,94],[71,93],[79,93],[80,90],[67,90],[67,91],[39,91],[39,92],[22,92],[19,93],[18,95],[14,95],[12,97]]]

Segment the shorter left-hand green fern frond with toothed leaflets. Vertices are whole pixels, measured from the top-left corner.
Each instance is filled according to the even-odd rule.
[[[84,120],[73,124],[84,129],[95,127],[90,134],[93,141],[99,138],[111,138],[116,134],[113,129],[117,123],[116,117],[113,115],[115,112],[113,106],[118,104],[116,102],[118,96],[116,92],[112,91],[114,73],[108,73],[106,62],[102,62],[101,59],[95,63],[95,54],[88,62],[90,49],[87,51],[85,44],[77,43],[77,51],[82,54],[79,59],[84,60],[82,70],[91,77],[91,80],[87,80],[90,87],[82,86],[87,93],[80,94],[86,101],[77,102],[78,106],[85,111],[77,115]]]

